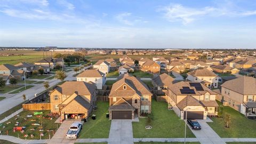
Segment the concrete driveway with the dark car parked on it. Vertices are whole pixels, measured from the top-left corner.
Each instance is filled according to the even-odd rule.
[[[192,130],[190,125],[188,125],[189,129],[195,134],[197,140],[201,144],[210,144],[210,143],[216,143],[216,144],[222,144],[225,143],[219,135],[213,131],[213,129],[206,123],[206,122],[212,122],[211,119],[198,119],[198,123],[201,125],[202,130]]]

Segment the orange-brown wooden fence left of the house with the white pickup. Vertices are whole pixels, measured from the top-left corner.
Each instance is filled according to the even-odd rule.
[[[22,105],[23,110],[50,110],[51,103],[27,103]]]

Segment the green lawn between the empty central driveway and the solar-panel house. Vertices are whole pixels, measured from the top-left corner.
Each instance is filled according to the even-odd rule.
[[[173,110],[167,109],[166,102],[156,102],[152,100],[151,111],[153,129],[147,130],[147,118],[139,118],[140,122],[133,122],[134,138],[183,138],[185,133],[185,122],[181,120]],[[187,127],[187,137],[195,138],[194,134]]]

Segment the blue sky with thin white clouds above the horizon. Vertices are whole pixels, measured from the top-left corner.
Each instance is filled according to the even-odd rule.
[[[0,46],[255,49],[255,0],[0,0]]]

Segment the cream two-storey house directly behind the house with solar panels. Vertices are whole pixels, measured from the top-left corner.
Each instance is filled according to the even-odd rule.
[[[207,87],[218,87],[219,77],[212,71],[204,69],[196,69],[187,73],[187,79],[191,82],[200,82]]]

